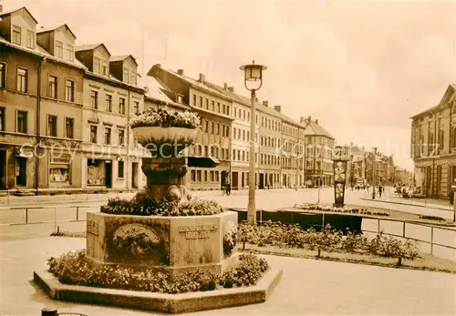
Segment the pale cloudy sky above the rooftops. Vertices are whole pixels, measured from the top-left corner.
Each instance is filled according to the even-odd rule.
[[[267,66],[260,101],[317,118],[338,144],[409,158],[409,117],[456,84],[456,1],[4,0],[77,43],[200,73],[248,96],[239,66]]]

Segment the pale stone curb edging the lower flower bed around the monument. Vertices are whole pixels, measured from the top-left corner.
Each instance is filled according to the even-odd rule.
[[[181,294],[67,285],[46,270],[34,271],[34,281],[52,300],[181,313],[264,302],[273,293],[282,275],[282,270],[270,268],[254,286]]]

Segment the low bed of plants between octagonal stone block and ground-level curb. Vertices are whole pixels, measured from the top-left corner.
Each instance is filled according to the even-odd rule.
[[[60,282],[100,288],[161,293],[213,291],[220,286],[248,286],[256,284],[268,263],[253,254],[242,254],[238,265],[218,275],[195,269],[171,278],[167,270],[133,270],[116,265],[92,266],[85,250],[71,251],[47,260],[49,272]]]

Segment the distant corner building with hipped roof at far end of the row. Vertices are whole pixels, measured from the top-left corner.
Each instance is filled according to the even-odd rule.
[[[318,124],[318,119],[301,117],[306,137],[306,185],[331,186],[334,181],[332,152],[334,138]]]

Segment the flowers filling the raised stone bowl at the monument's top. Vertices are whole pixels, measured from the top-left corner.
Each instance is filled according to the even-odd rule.
[[[130,127],[200,128],[201,118],[189,111],[171,112],[164,109],[148,108],[130,120]]]

